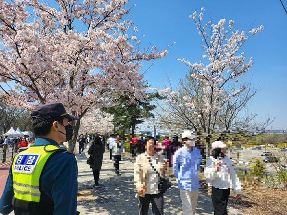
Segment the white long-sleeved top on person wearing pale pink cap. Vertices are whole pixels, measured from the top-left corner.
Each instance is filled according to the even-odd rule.
[[[216,164],[220,161],[219,170],[216,171]],[[241,183],[232,166],[232,161],[228,157],[222,160],[209,157],[204,168],[204,176],[207,179],[209,186],[214,186],[219,189],[232,188],[236,193],[241,193]]]

